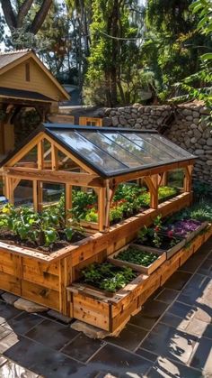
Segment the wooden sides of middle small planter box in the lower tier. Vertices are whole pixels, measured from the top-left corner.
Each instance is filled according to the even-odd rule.
[[[120,252],[122,251],[125,251],[126,249],[128,249],[129,246],[135,246],[139,249],[141,249],[142,251],[144,252],[149,252],[149,253],[154,253],[154,254],[158,254],[158,259],[155,260],[154,263],[151,263],[150,265],[148,266],[144,266],[144,265],[138,265],[137,263],[128,263],[124,260],[119,260],[119,259],[116,259],[115,257],[117,257],[119,255]],[[155,249],[153,248],[150,248],[150,247],[146,247],[146,248],[142,248],[139,244],[128,244],[126,245],[125,247],[119,249],[119,251],[115,252],[114,254],[110,254],[110,256],[108,257],[108,261],[110,263],[113,263],[114,265],[117,265],[117,266],[128,266],[129,268],[132,268],[133,271],[136,271],[136,272],[141,272],[141,273],[146,273],[147,275],[155,272],[155,270],[166,260],[166,254],[164,251],[162,250],[157,250],[155,252]]]

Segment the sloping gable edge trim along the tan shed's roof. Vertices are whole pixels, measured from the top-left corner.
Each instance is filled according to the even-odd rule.
[[[66,90],[59,84],[59,82],[57,81],[56,78],[54,78],[54,76],[51,74],[51,72],[49,71],[49,69],[46,68],[46,66],[40,61],[40,59],[32,51],[29,51],[28,53],[26,53],[22,57],[17,58],[17,60],[13,60],[11,63],[8,63],[6,66],[4,66],[2,69],[0,69],[0,75],[3,75],[9,69],[13,69],[14,67],[18,66],[19,64],[21,64],[25,60],[29,60],[30,58],[32,58],[40,66],[40,69],[42,69],[45,72],[45,74],[49,77],[49,79],[58,88],[58,90],[60,91],[60,93],[62,93],[63,96],[67,100],[69,100],[70,97],[69,97],[68,93],[66,92]]]

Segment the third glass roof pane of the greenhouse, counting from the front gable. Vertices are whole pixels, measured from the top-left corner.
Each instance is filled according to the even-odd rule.
[[[133,141],[130,141],[128,139],[128,135],[130,134],[119,134],[119,133],[103,133],[105,136],[110,138],[111,141],[119,144],[119,146],[122,146],[128,152],[132,153],[135,155],[138,159],[141,159],[144,161],[144,164],[157,164],[158,163],[158,158],[155,157],[155,155],[150,155],[149,152],[146,152],[144,147],[141,145],[137,145]],[[126,137],[127,136],[127,137]]]

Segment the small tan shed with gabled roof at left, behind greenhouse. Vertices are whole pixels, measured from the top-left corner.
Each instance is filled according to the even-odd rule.
[[[14,118],[22,108],[34,108],[41,122],[59,101],[69,99],[34,51],[0,53],[0,157],[14,148]]]

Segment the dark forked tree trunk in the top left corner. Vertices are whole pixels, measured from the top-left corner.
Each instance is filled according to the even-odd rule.
[[[27,23],[29,12],[34,6],[33,3],[35,3],[33,0],[16,0],[13,6],[11,0],[1,0],[5,22],[11,32],[15,29],[21,29],[25,23]],[[26,32],[31,32],[34,35],[39,32],[51,5],[52,0],[41,1],[38,11],[34,14],[31,23],[27,23]]]

